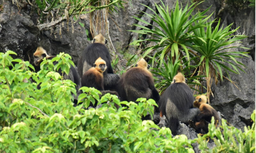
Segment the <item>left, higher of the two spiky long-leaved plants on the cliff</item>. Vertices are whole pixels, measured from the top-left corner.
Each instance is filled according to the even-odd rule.
[[[131,32],[147,34],[149,36],[152,36],[152,39],[148,38],[145,40],[135,40],[135,42],[132,42],[132,43],[133,44],[140,43],[142,41],[156,42],[155,46],[147,47],[144,49],[145,52],[143,53],[143,57],[147,56],[152,49],[159,49],[157,50],[156,54],[153,57],[151,57],[152,64],[154,64],[155,60],[160,61],[160,63],[157,65],[157,68],[162,66],[164,57],[170,56],[171,58],[171,57],[174,57],[174,55],[177,56],[179,52],[181,54],[182,52],[179,50],[179,47],[182,47],[185,50],[185,54],[189,60],[188,48],[186,47],[187,46],[186,44],[189,43],[190,41],[188,33],[202,26],[202,25],[197,25],[197,26],[191,27],[189,25],[193,24],[195,21],[199,19],[207,17],[207,16],[204,16],[204,14],[209,10],[208,8],[203,12],[199,12],[198,14],[192,15],[192,12],[194,11],[195,7],[198,4],[193,3],[190,6],[188,6],[187,4],[182,11],[182,7],[179,8],[179,3],[177,1],[175,9],[172,9],[171,14],[169,14],[169,7],[165,6],[163,2],[162,2],[163,6],[157,5],[155,3],[156,10],[157,12],[159,12],[159,15],[156,11],[151,9],[149,6],[141,4],[153,12],[153,14],[148,14],[146,12],[143,12],[143,13],[146,15],[147,18],[150,18],[152,21],[154,21],[157,26],[152,25],[141,18],[133,17],[142,23],[151,25],[153,29],[149,29],[146,26],[134,24],[135,26],[140,27],[141,30],[131,30]],[[210,18],[210,16],[208,16],[206,19]],[[204,22],[206,21],[206,19],[204,19]]]

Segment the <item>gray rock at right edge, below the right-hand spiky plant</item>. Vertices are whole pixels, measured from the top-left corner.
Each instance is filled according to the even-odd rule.
[[[243,68],[246,73],[229,73],[238,88],[223,79],[223,82],[213,87],[214,98],[211,105],[220,111],[230,124],[243,130],[245,125],[249,125],[251,114],[255,110],[255,62],[251,57],[238,61],[246,65],[246,68]]]

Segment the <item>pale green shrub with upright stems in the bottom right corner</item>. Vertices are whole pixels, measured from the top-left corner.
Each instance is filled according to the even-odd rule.
[[[203,136],[197,135],[199,149],[204,152],[250,152],[255,153],[255,110],[251,115],[252,127],[244,127],[244,132],[232,126],[228,126],[226,120],[222,119],[220,128],[215,128],[214,119],[209,124],[209,132]],[[221,129],[221,130],[220,130]],[[212,139],[215,146],[209,149],[207,144]]]

